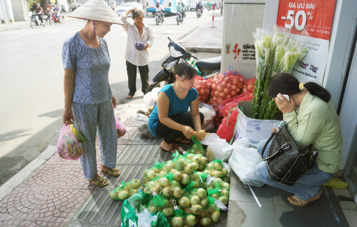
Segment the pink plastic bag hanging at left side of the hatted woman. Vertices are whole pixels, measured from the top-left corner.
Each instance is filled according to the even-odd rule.
[[[69,125],[63,124],[57,142],[57,153],[64,159],[78,160],[83,156],[83,150]]]

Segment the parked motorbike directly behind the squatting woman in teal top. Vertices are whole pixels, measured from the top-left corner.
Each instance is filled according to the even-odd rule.
[[[151,81],[151,84],[146,90],[145,93],[151,92],[153,88],[161,88],[167,85],[167,81],[170,76],[174,76],[174,68],[176,64],[179,64],[180,60],[186,61],[189,64],[193,65],[197,69],[197,74],[207,76],[208,78],[218,74],[221,71],[221,56],[220,57],[211,57],[209,59],[200,60],[199,57],[195,57],[192,53],[197,53],[197,50],[192,48],[190,52],[186,50],[183,46],[175,43],[169,39],[169,51],[171,55],[162,62],[162,69]],[[197,62],[195,61],[197,60]]]

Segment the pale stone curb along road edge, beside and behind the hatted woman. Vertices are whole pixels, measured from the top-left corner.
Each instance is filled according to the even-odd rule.
[[[122,104],[118,105],[116,110],[122,110],[127,107],[141,107],[142,104]],[[145,104],[144,104],[145,105]],[[53,135],[52,139],[50,140],[50,144],[46,147],[42,153],[37,156],[34,160],[31,161],[31,163],[27,164],[22,170],[20,170],[15,176],[11,177],[8,179],[8,181],[5,182],[0,187],[0,202],[3,200],[3,198],[6,198],[8,194],[13,192],[20,184],[22,184],[27,177],[31,176],[38,167],[41,167],[48,159],[50,159],[56,152],[57,152],[57,141],[59,139],[59,134],[61,133],[61,130],[56,130],[55,135]]]

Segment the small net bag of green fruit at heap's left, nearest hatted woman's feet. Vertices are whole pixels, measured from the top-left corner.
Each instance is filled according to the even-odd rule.
[[[132,179],[127,183],[122,181],[109,195],[113,200],[127,200],[135,193],[138,193],[139,189],[144,190],[138,179]]]

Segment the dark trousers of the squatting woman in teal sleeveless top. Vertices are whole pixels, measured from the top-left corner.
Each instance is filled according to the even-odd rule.
[[[201,118],[201,124],[204,121],[204,115],[200,113],[200,118]],[[190,111],[187,111],[185,114],[178,115],[178,116],[173,116],[170,119],[172,121],[175,121],[176,123],[179,123],[181,125],[187,125],[193,128],[193,121],[190,116]],[[175,139],[179,139],[180,137],[183,136],[183,132],[178,131],[178,130],[173,130],[172,128],[167,127],[163,123],[159,121],[158,125],[156,125],[156,137],[162,138],[165,137],[165,142],[167,144],[172,144]],[[190,138],[188,138],[190,139]]]

